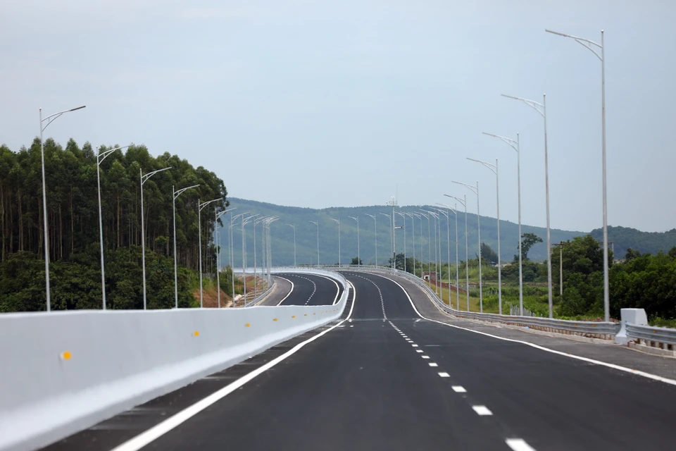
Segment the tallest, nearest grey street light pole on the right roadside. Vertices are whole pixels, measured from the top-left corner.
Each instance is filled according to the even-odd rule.
[[[610,321],[610,288],[608,283],[608,190],[606,185],[606,42],[601,30],[601,44],[582,37],[545,30],[553,35],[575,39],[582,47],[591,51],[601,61],[601,161],[603,172],[603,310],[606,322]],[[599,54],[601,51],[601,54]],[[551,292],[551,283],[549,285]],[[550,294],[551,299],[551,294]],[[551,315],[550,315],[551,317]]]

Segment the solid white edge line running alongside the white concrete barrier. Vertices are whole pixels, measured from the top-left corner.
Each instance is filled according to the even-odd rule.
[[[335,326],[332,326],[331,328],[328,328],[327,330],[324,330],[323,332],[320,332],[317,335],[314,335],[313,337],[308,338],[308,340],[305,340],[304,342],[299,343],[298,345],[292,347],[292,349],[288,350],[287,352],[284,352],[284,354],[282,354],[279,357],[271,360],[267,364],[258,367],[257,369],[251,371],[251,373],[247,373],[246,375],[237,379],[237,381],[234,381],[234,382],[232,382],[228,385],[225,385],[225,387],[220,388],[220,390],[217,390],[214,393],[211,393],[211,395],[208,395],[207,397],[202,398],[198,402],[195,402],[194,404],[190,405],[189,407],[186,407],[185,409],[178,412],[177,414],[170,416],[168,419],[165,419],[160,424],[156,424],[152,428],[149,428],[148,430],[140,433],[136,437],[134,437],[130,440],[127,440],[125,443],[122,443],[121,445],[114,447],[113,450],[111,450],[111,451],[138,451],[138,450],[140,450],[142,447],[148,445],[149,443],[153,442],[157,438],[160,438],[162,435],[164,435],[165,433],[168,433],[169,431],[171,431],[176,426],[179,426],[180,424],[184,423],[184,421],[187,421],[188,419],[192,418],[192,416],[199,414],[199,412],[203,411],[204,409],[211,406],[212,404],[215,404],[215,402],[218,402],[219,400],[222,400],[227,395],[230,395],[230,393],[234,392],[234,390],[237,390],[237,388],[242,387],[242,385],[251,381],[251,379],[255,378],[256,376],[261,375],[265,371],[268,371],[268,369],[270,369],[273,366],[275,366],[276,364],[282,362],[282,360],[287,359],[287,357],[290,357],[292,354],[295,354],[303,346],[307,345],[309,342],[313,342],[314,340],[317,340],[318,338],[320,338],[325,333],[328,333],[331,330],[334,330],[334,328],[337,328],[338,326],[340,326],[347,319],[349,319],[350,316],[352,316],[352,311],[354,309],[354,304],[355,304],[355,300],[356,300],[356,290],[354,290],[354,285],[352,285],[351,283],[349,283],[349,285],[352,288],[352,292],[353,292],[354,297],[352,299],[352,305],[350,307],[350,312],[343,321],[340,321]],[[349,290],[349,288],[348,288],[348,290]],[[347,299],[348,297],[349,297],[349,292],[347,293],[347,297],[345,299]]]

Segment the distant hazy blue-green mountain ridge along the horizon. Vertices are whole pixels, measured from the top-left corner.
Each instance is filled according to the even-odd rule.
[[[273,223],[271,229],[273,246],[273,265],[290,265],[294,263],[294,230],[287,226],[292,224],[296,227],[296,261],[298,264],[315,264],[317,262],[317,228],[310,221],[316,221],[319,224],[319,252],[321,264],[334,264],[338,262],[338,224],[332,219],[340,220],[340,247],[341,262],[349,263],[353,257],[357,257],[357,223],[350,218],[359,218],[359,237],[360,254],[364,264],[375,263],[375,229],[373,218],[367,214],[375,215],[377,221],[377,258],[379,264],[386,264],[392,249],[390,238],[389,219],[382,214],[392,214],[391,206],[358,206],[358,207],[333,207],[327,209],[309,209],[296,206],[280,206],[268,204],[265,202],[256,202],[246,199],[230,197],[230,208],[237,208],[233,215],[249,211],[249,214],[260,214],[261,216],[280,216],[280,220]],[[400,213],[419,212],[430,210],[432,206],[401,206],[395,207],[395,211]],[[404,226],[404,220],[399,214],[396,216],[396,227]],[[447,229],[446,218],[441,215],[441,242],[442,242],[442,260],[448,259],[447,247]],[[488,216],[481,216],[481,240],[488,243],[497,252],[497,227],[496,219]],[[221,229],[220,244],[223,255],[222,264],[227,262],[228,234],[227,226],[230,226],[230,214],[223,216],[225,228]],[[240,265],[242,261],[242,233],[241,222],[234,227],[234,261],[235,266]],[[479,252],[479,242],[477,240],[477,215],[468,213],[468,241],[469,256],[475,258]],[[455,261],[455,218],[451,213],[449,223],[451,235],[451,261]],[[546,229],[543,227],[521,226],[522,233],[534,233],[546,240]],[[246,230],[246,253],[247,262],[253,265],[253,226],[251,223],[245,226]],[[411,218],[406,218],[406,225],[403,229],[396,230],[396,252],[404,250],[404,234],[406,234],[406,254],[413,256],[413,246],[415,244],[415,257],[428,261],[428,240],[427,240],[427,220],[423,218],[422,237],[420,230],[420,220],[415,219],[415,224]],[[603,230],[595,229],[590,232],[596,240],[603,239]],[[415,237],[413,236],[415,234]],[[501,257],[503,261],[511,261],[513,256],[518,253],[518,224],[500,221],[501,234]],[[587,235],[585,232],[570,230],[551,230],[551,242],[561,242],[572,240],[573,237]],[[437,240],[439,237],[437,237]],[[415,243],[414,243],[415,240]],[[641,232],[633,228],[611,227],[608,226],[608,240],[614,243],[615,259],[622,259],[627,248],[639,249],[641,252],[650,252],[655,254],[661,249],[667,252],[676,246],[676,229],[664,233]],[[432,260],[434,259],[434,223],[430,226],[430,252]],[[465,259],[465,214],[458,212],[458,257]],[[422,247],[421,247],[422,244]],[[256,226],[256,263],[261,261],[261,226]],[[423,257],[420,252],[423,251]],[[534,245],[530,250],[529,257],[535,261],[546,259],[545,242]]]

